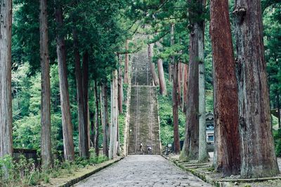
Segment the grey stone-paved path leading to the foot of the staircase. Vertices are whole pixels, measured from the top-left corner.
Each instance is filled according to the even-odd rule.
[[[160,155],[129,155],[78,186],[211,186]]]

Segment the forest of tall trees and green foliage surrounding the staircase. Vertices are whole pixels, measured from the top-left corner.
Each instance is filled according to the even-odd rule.
[[[159,91],[163,147],[173,143],[181,160],[208,160],[210,111],[217,172],[279,174],[281,1],[1,0],[0,7],[0,186],[48,183],[58,168],[126,155],[131,61],[141,50]],[[40,166],[13,160],[17,148],[36,150]]]

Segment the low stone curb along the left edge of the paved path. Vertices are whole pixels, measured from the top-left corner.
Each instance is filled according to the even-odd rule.
[[[83,180],[83,179],[86,179],[87,177],[89,177],[89,176],[91,176],[91,175],[93,175],[93,174],[96,174],[97,172],[100,172],[100,170],[103,170],[103,169],[105,169],[105,168],[107,168],[107,167],[110,167],[110,165],[113,165],[113,164],[115,164],[116,162],[119,162],[119,161],[122,160],[123,158],[125,158],[125,157],[118,158],[117,160],[115,160],[115,161],[113,161],[113,162],[110,162],[110,163],[108,163],[107,165],[100,166],[100,167],[98,167],[97,169],[94,169],[93,171],[91,171],[91,172],[89,172],[89,173],[87,173],[87,174],[84,174],[84,175],[82,175],[82,176],[79,176],[79,177],[77,177],[77,178],[75,178],[75,179],[72,179],[72,180],[70,180],[70,181],[67,181],[66,183],[64,183],[64,184],[62,184],[62,185],[60,185],[60,186],[58,186],[58,187],[70,187],[70,186],[74,185],[75,183],[78,183],[79,181],[81,181],[81,180]]]

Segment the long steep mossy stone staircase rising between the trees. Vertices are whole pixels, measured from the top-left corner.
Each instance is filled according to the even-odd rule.
[[[152,85],[147,53],[141,51],[133,56],[128,152],[148,154],[148,145],[152,154],[160,154],[157,87]]]

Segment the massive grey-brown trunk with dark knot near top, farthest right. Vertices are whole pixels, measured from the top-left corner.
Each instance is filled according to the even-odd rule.
[[[241,176],[279,173],[270,124],[261,1],[235,1]]]

